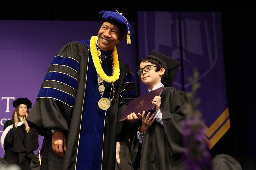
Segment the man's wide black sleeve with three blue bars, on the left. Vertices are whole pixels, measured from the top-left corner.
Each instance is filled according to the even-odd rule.
[[[42,136],[51,135],[51,129],[69,129],[79,79],[77,48],[77,42],[68,43],[53,57],[36,103],[28,115],[29,126],[36,126]]]

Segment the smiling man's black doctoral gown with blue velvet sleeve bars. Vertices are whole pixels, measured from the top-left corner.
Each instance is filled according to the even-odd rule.
[[[92,65],[90,66],[92,64],[90,46],[88,47],[88,41],[85,43],[87,43],[87,46],[81,42],[71,42],[60,49],[51,63],[36,103],[27,118],[30,126],[36,126],[39,134],[44,136],[41,164],[44,170],[77,169],[77,153],[78,148],[81,146],[79,144],[80,129],[81,126],[85,125],[81,123],[81,120],[83,121],[84,119],[84,114],[82,113],[90,108],[84,107],[86,105],[84,100],[86,97],[92,96],[91,100],[96,99],[95,102],[98,103],[98,97],[100,96],[99,91],[95,91],[95,93],[86,91],[87,86],[92,81],[87,79],[87,74],[96,72],[96,70],[91,67]],[[130,129],[133,126],[127,122],[118,123],[118,119],[128,105],[129,100],[137,97],[134,75],[127,64],[120,59],[119,66],[120,77],[114,83],[116,101],[113,100],[111,102],[103,122],[103,146],[100,152],[102,159],[95,162],[103,170],[115,168],[116,141],[130,138]],[[93,85],[98,88],[97,83]],[[47,91],[44,91],[44,89],[47,89]],[[113,88],[111,88],[110,99],[112,96]],[[97,112],[94,115],[96,114]],[[83,119],[81,118],[82,116]],[[91,123],[91,121],[87,123]],[[63,131],[67,138],[67,149],[64,158],[59,157],[52,150],[51,129]],[[86,144],[87,142],[90,143],[91,139],[84,143]],[[87,161],[87,159],[84,160]],[[94,169],[93,166],[88,166],[87,168]]]

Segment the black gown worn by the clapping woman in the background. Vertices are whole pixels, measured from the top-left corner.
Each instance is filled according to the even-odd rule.
[[[4,123],[4,130],[13,124],[4,138],[4,159],[9,164],[20,165],[22,170],[30,170],[30,162],[37,159],[33,151],[38,148],[38,133],[35,128],[30,128],[28,133],[25,125],[14,126],[13,120]]]

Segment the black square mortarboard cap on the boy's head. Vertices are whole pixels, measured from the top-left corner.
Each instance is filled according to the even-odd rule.
[[[164,54],[161,54],[155,50],[152,50],[151,54],[147,56],[147,58],[155,58],[156,60],[160,61],[164,65],[164,75],[163,77],[166,77],[165,79],[161,79],[161,82],[165,87],[171,87],[172,83],[174,81],[174,78],[178,72],[178,69],[180,67],[180,62],[177,60],[174,60]]]

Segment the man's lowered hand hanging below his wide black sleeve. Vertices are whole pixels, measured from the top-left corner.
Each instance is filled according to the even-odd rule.
[[[63,147],[64,146],[64,147]],[[64,157],[63,148],[66,151],[67,140],[63,132],[56,131],[52,134],[52,149],[60,157]]]

